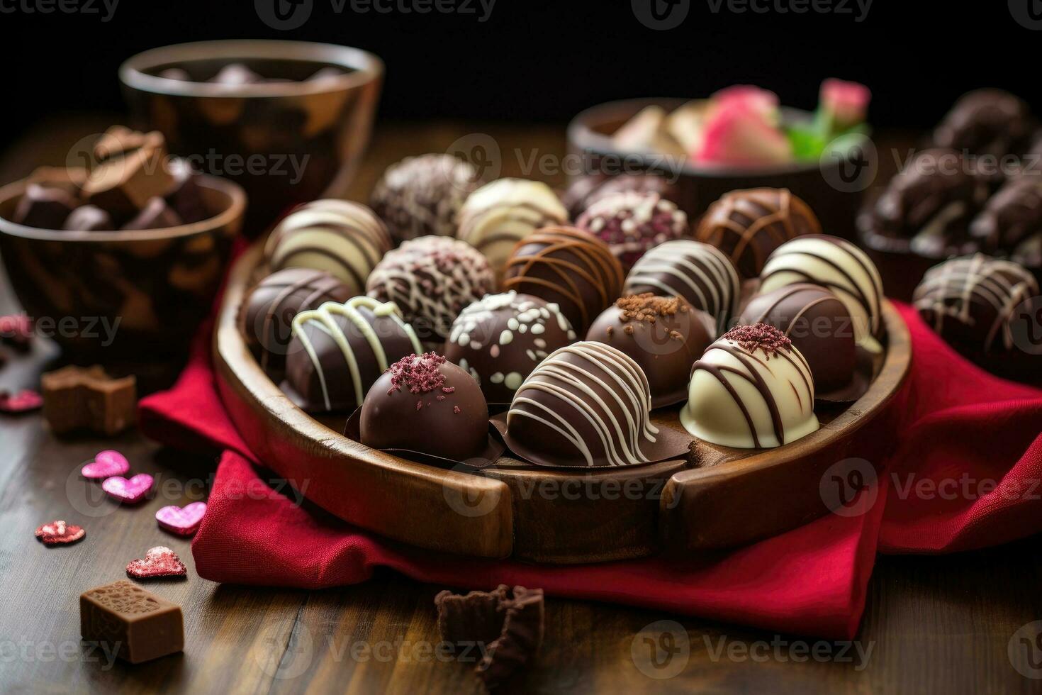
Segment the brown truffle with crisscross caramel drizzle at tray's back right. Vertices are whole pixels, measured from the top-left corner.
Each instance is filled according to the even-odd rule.
[[[710,205],[695,239],[726,253],[739,274],[749,279],[782,244],[820,231],[814,212],[788,189],[747,189],[724,194]]]

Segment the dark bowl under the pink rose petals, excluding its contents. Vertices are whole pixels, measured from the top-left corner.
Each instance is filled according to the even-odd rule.
[[[789,189],[807,201],[821,221],[825,233],[854,240],[854,217],[861,207],[862,192],[871,180],[872,172],[863,168],[863,158],[851,147],[846,157],[825,158],[822,162],[800,162],[784,167],[737,169],[708,167],[683,159],[664,164],[654,154],[621,151],[612,143],[612,134],[626,121],[646,106],[660,105],[673,109],[688,99],[626,99],[599,104],[581,111],[568,126],[569,153],[582,157],[587,172],[615,173],[625,171],[656,171],[670,180],[675,179],[677,200],[692,221],[701,217],[705,208],[723,194],[737,189],[773,188]],[[783,108],[786,122],[810,121],[814,115],[795,108]],[[868,138],[851,140],[865,144],[873,151]],[[854,155],[859,156],[854,156]],[[621,165],[620,165],[621,163]],[[572,176],[575,178],[581,177]]]

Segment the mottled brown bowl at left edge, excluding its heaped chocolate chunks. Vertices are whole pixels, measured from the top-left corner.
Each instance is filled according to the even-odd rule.
[[[76,362],[183,351],[214,307],[246,209],[242,188],[200,176],[208,209],[221,212],[195,224],[61,231],[10,222],[26,184],[0,189],[0,254],[36,334]]]

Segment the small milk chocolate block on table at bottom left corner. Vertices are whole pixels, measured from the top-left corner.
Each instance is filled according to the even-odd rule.
[[[184,649],[180,606],[126,579],[80,595],[79,630],[84,641],[105,644],[131,664]]]

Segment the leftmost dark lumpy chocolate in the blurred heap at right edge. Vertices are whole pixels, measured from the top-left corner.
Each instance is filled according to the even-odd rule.
[[[890,180],[859,224],[873,233],[912,240],[918,253],[944,255],[968,241],[967,225],[987,196],[987,184],[969,173],[962,154],[924,150]]]

